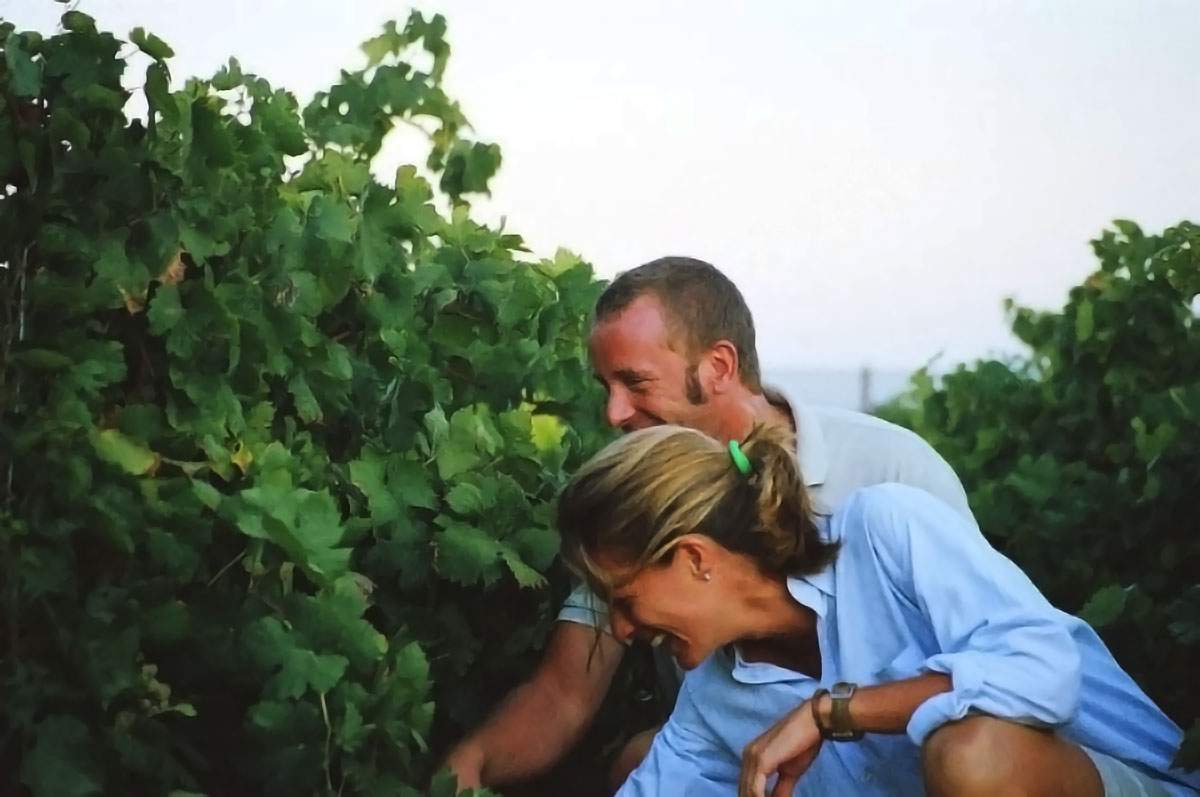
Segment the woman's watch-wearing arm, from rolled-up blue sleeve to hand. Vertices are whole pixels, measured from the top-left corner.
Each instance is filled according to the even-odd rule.
[[[1064,616],[978,528],[931,495],[894,484],[859,491],[840,514],[838,567],[890,581],[940,651],[914,678],[860,687],[850,701],[854,730],[907,732],[920,745],[971,711],[1039,725],[1070,719],[1081,660]],[[817,705],[822,724],[829,702]],[[776,772],[772,795],[790,795],[820,748],[805,702],[746,748],[739,795],[766,795]]]

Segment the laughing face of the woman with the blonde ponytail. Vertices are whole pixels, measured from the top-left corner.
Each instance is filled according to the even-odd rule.
[[[664,561],[641,570],[604,553],[592,561],[620,585],[610,597],[618,640],[662,646],[680,667],[691,670],[736,639],[726,639],[721,630],[730,606],[722,580],[713,579],[690,545],[677,545]]]

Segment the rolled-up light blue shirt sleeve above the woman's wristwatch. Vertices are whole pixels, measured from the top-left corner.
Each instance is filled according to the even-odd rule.
[[[917,744],[944,723],[982,712],[1060,725],[1079,708],[1081,657],[1067,615],[943,502],[902,485],[866,491],[863,521],[877,561],[930,622],[940,653],[925,670],[948,693],[908,721]]]

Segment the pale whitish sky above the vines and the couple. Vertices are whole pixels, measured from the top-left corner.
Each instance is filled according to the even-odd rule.
[[[430,0],[446,88],[504,166],[485,220],[602,276],[661,254],[743,289],[770,367],[911,368],[1018,348],[1112,218],[1200,221],[1200,2]],[[301,100],[409,6],[82,0],[176,78],[229,55]],[[0,0],[49,32],[64,6]],[[420,162],[398,140],[377,172]]]

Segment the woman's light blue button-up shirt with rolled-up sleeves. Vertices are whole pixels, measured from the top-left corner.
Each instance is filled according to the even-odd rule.
[[[827,742],[797,795],[922,795],[919,748],[943,723],[984,712],[1054,726],[1193,797],[1200,774],[1170,769],[1182,731],[1126,675],[1087,623],[1052,607],[960,514],[899,484],[865,487],[830,517],[836,561],[788,579],[817,616],[821,679],[736,647],[688,673],[671,719],[618,792],[732,795],[742,750],[818,687],[946,672],[952,691],[918,707],[906,735]],[[1184,785],[1186,784],[1186,785]]]

